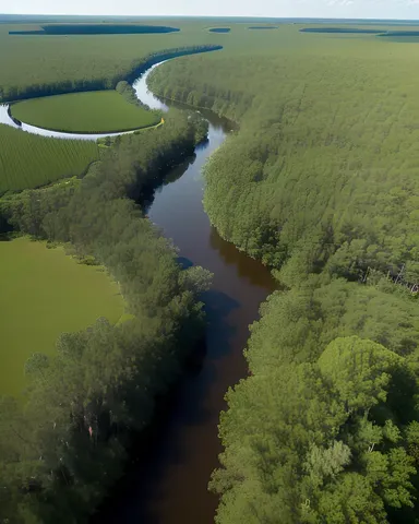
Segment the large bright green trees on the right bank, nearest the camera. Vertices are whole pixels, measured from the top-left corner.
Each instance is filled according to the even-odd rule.
[[[222,415],[219,523],[382,523],[412,504],[418,302],[318,281],[276,291],[251,326],[252,376]]]

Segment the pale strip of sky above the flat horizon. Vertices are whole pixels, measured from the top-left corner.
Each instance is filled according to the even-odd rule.
[[[0,0],[0,13],[419,19],[419,0]]]

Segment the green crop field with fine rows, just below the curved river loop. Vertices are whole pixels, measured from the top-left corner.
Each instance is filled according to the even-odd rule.
[[[80,176],[98,158],[95,142],[49,139],[0,124],[0,194]]]

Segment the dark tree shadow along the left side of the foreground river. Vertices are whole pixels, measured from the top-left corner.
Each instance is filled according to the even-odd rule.
[[[191,261],[185,259],[185,263],[191,264]],[[237,327],[229,322],[229,315],[240,305],[214,289],[204,295],[207,320],[205,341],[196,347],[188,361],[185,376],[170,395],[157,400],[155,422],[134,443],[125,476],[100,512],[93,517],[94,523],[161,523],[161,515],[148,502],[166,497],[161,477],[168,468],[188,465],[189,445],[184,440],[188,428],[204,428],[214,418],[212,409],[205,404],[206,390],[218,379],[216,361],[231,352],[230,341]],[[182,431],[173,430],[173,427],[182,428]],[[205,441],[202,443],[205,444]],[[205,453],[205,446],[202,452]],[[169,520],[165,517],[165,522]],[[173,515],[171,522],[181,521]]]

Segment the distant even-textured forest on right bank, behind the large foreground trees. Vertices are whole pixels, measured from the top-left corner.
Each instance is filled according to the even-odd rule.
[[[405,79],[417,47],[290,26],[252,33],[246,52],[239,38],[149,76],[154,92],[240,123],[205,170],[220,235],[274,267],[312,246],[306,274],[415,269],[419,106]]]

